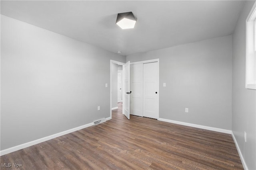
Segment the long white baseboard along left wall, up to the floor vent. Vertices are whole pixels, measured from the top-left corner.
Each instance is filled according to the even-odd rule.
[[[108,119],[108,118],[107,118]],[[107,120],[106,119],[106,120]],[[69,130],[66,130],[66,131],[63,131],[63,132],[60,132],[60,133],[56,133],[54,135],[50,135],[50,136],[47,136],[47,137],[43,137],[41,139],[36,139],[34,141],[30,141],[28,143],[24,143],[24,144],[21,144],[21,145],[18,145],[18,146],[15,146],[15,147],[11,147],[11,148],[8,148],[8,149],[4,149],[4,150],[0,150],[0,156],[2,155],[5,155],[5,154],[8,154],[8,153],[11,153],[11,152],[15,152],[17,150],[20,150],[20,149],[24,149],[26,147],[30,147],[32,145],[36,145],[38,143],[42,143],[42,142],[45,142],[45,141],[48,141],[50,139],[54,139],[56,137],[60,137],[62,135],[66,135],[68,133],[72,133],[74,131],[78,131],[80,129],[84,129],[86,127],[90,127],[90,126],[93,126],[94,124],[93,123],[88,123],[86,125],[82,125],[82,126],[79,126],[79,127],[75,127],[73,129],[69,129]]]

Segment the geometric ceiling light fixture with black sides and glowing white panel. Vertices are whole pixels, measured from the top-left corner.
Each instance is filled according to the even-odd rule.
[[[132,12],[124,12],[117,14],[116,24],[122,29],[134,28],[137,18]]]

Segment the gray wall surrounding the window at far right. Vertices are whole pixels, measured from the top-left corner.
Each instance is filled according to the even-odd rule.
[[[256,169],[256,90],[245,88],[245,23],[254,2],[244,4],[233,34],[232,131],[250,170]]]

